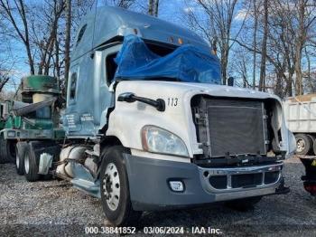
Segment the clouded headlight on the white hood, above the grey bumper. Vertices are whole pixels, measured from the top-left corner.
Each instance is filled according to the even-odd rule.
[[[145,126],[142,129],[142,143],[144,150],[149,152],[189,156],[181,138],[163,128]]]

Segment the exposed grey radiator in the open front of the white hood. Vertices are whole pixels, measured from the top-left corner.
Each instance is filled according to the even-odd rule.
[[[265,155],[265,109],[262,101],[203,100],[208,122],[205,138],[208,138],[211,157]]]

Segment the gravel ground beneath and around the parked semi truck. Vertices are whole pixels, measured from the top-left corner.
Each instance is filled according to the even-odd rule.
[[[316,236],[316,200],[303,190],[303,173],[299,159],[287,160],[283,174],[291,193],[265,196],[251,211],[213,204],[144,213],[137,235],[144,235],[144,226],[182,226],[186,235],[191,235],[191,227],[210,227],[224,236]],[[0,165],[0,236],[79,236],[87,226],[104,225],[109,224],[98,199],[66,181],[28,183],[16,175],[14,165]]]

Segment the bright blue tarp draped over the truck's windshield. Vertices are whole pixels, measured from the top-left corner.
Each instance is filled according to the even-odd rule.
[[[144,41],[125,36],[116,55],[117,80],[168,80],[220,84],[218,57],[190,44],[183,45],[166,56],[151,52]]]

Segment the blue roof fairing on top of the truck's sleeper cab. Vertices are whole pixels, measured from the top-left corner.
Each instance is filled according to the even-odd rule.
[[[81,20],[71,60],[76,60],[117,36],[131,33],[145,40],[176,46],[191,43],[210,51],[209,44],[188,29],[147,14],[139,14],[119,7],[102,6],[92,10]]]

